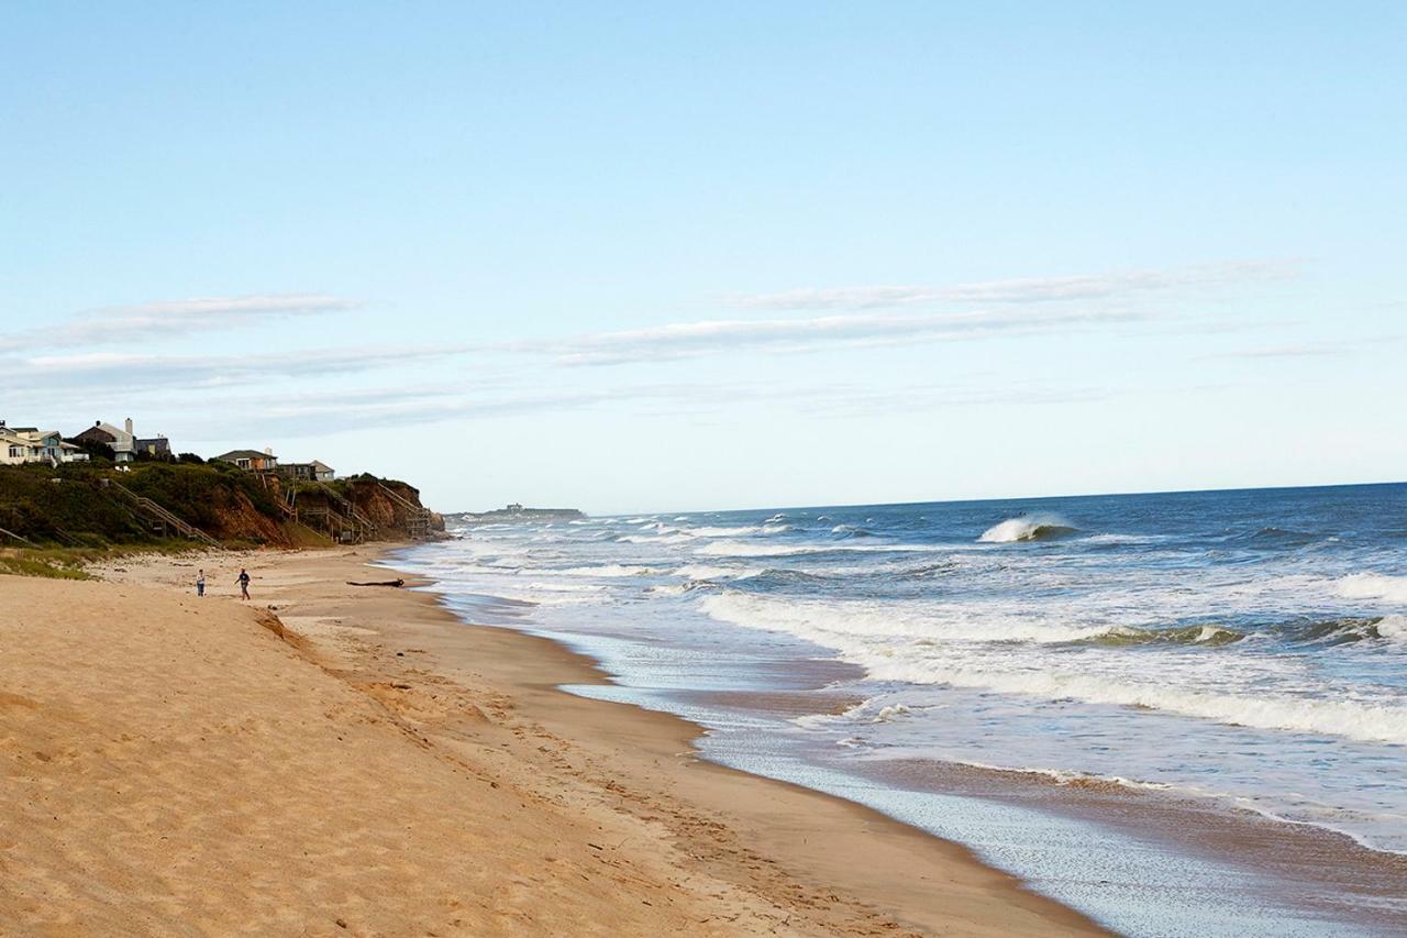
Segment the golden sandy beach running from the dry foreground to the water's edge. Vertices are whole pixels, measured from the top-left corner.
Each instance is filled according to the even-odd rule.
[[[685,721],[557,690],[602,677],[552,642],[346,584],[374,559],[0,577],[0,934],[1099,934],[961,846],[696,759]]]

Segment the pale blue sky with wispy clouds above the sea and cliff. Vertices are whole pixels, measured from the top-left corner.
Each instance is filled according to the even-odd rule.
[[[1401,3],[8,3],[0,418],[443,511],[1407,477]]]

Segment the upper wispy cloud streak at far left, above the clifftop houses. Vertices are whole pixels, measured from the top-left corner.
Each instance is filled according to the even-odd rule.
[[[89,310],[55,328],[27,330],[3,339],[11,348],[117,345],[238,328],[291,315],[340,313],[356,306],[324,293],[169,300]]]

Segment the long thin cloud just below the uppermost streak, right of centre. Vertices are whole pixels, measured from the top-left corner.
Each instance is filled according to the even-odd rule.
[[[1140,318],[1128,311],[1006,310],[910,315],[822,315],[787,320],[702,320],[499,348],[552,355],[563,365],[620,365],[740,351],[810,351],[834,345],[938,342],[995,334],[1088,330]]]

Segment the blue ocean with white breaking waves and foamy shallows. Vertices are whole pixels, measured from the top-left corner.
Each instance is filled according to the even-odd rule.
[[[575,693],[1117,931],[1407,931],[1407,484],[450,531],[395,566]]]

